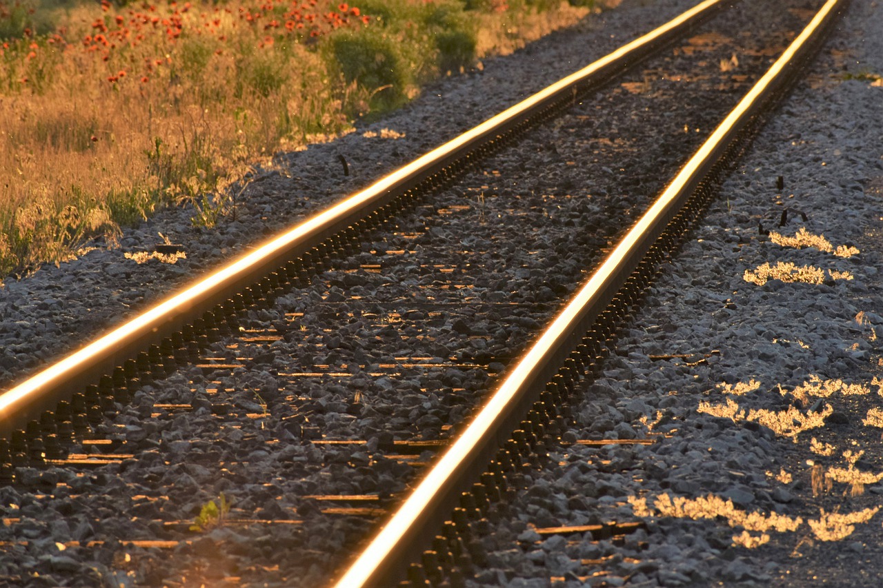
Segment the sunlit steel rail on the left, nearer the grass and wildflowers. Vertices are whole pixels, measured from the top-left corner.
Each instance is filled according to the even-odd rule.
[[[53,411],[61,400],[96,383],[125,359],[132,358],[163,337],[179,331],[185,324],[222,303],[246,286],[256,283],[275,268],[295,260],[336,233],[366,219],[375,210],[389,204],[427,178],[441,174],[454,163],[480,147],[492,146],[520,124],[542,116],[549,109],[573,100],[580,92],[606,82],[729,3],[705,0],[668,24],[631,41],[582,70],[533,94],[515,106],[487,119],[470,131],[436,147],[404,167],[382,177],[361,192],[351,194],[336,205],[301,222],[291,230],[269,239],[252,253],[243,255],[215,273],[125,322],[79,351],[47,367],[42,372],[0,395],[0,435],[9,435],[39,418],[42,411]]]

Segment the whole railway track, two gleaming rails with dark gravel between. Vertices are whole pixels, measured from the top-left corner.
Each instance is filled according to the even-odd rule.
[[[786,19],[782,30],[766,30],[758,36],[766,35],[763,41],[781,52],[793,36],[794,23],[811,4],[795,3],[793,19]],[[826,4],[829,10],[835,5]],[[700,7],[714,11],[717,3]],[[763,12],[754,19],[758,25],[764,23]],[[697,45],[726,38],[715,29],[722,26],[716,22],[703,25],[710,30],[688,28],[696,41],[683,45],[693,49],[680,49],[680,53],[689,54],[698,50]],[[662,46],[675,38],[674,32],[665,35]],[[733,90],[747,89],[763,74],[768,62],[765,51],[771,49],[751,50],[756,59],[749,66],[751,52],[746,51],[738,77],[697,80],[698,86],[717,91],[713,102],[726,102],[720,96],[727,94],[730,105],[735,104],[741,93]],[[804,50],[809,49],[801,49],[801,55]],[[727,52],[728,47],[712,53],[715,66],[721,51]],[[633,61],[630,57],[626,63]],[[638,74],[638,80],[621,82],[623,86],[614,87],[613,100],[631,95],[639,99],[654,81],[691,75],[676,70],[685,64],[671,61],[653,64]],[[800,59],[789,61],[785,70],[790,70],[792,61]],[[602,62],[580,75],[600,75],[608,83],[613,72],[624,67]],[[713,69],[727,73],[722,62]],[[231,583],[244,577],[248,582],[268,577],[284,585],[300,577],[304,585],[311,585],[339,567],[345,549],[363,540],[378,517],[401,504],[419,472],[429,470],[419,486],[423,490],[411,494],[400,514],[384,527],[384,533],[398,529],[400,536],[379,535],[339,585],[391,585],[405,577],[408,563],[418,560],[426,565],[411,568],[412,583],[427,577],[435,583],[462,583],[481,560],[480,549],[469,536],[473,532],[469,519],[483,508],[480,505],[488,500],[487,494],[493,497],[499,485],[511,479],[510,470],[517,469],[522,454],[526,456],[525,447],[539,441],[547,429],[555,432],[556,426],[563,425],[566,409],[558,414],[552,403],[562,402],[565,388],[583,377],[577,370],[592,366],[607,352],[605,342],[615,330],[615,315],[624,314],[638,294],[640,283],[627,281],[628,276],[641,263],[643,271],[652,269],[641,261],[647,250],[655,252],[657,261],[668,254],[666,248],[675,245],[689,222],[681,215],[676,228],[666,232],[667,221],[677,215],[679,200],[692,195],[706,171],[720,165],[721,154],[728,148],[723,143],[702,147],[712,152],[711,158],[682,170],[683,185],[666,192],[672,204],[658,201],[651,206],[662,178],[656,178],[656,185],[645,180],[640,194],[599,198],[595,200],[600,202],[588,205],[585,200],[574,202],[577,199],[570,193],[574,179],[564,170],[576,167],[569,155],[578,152],[576,147],[565,147],[562,137],[598,124],[592,105],[577,102],[588,102],[579,94],[584,87],[595,91],[601,84],[586,83],[583,78],[563,82],[562,95],[550,93],[531,102],[529,115],[504,113],[502,129],[488,125],[442,147],[441,162],[425,170],[398,172],[342,205],[358,210],[363,220],[332,220],[329,211],[324,218],[278,237],[171,298],[153,314],[147,313],[147,318],[136,319],[117,335],[86,348],[79,358],[74,355],[0,397],[7,431],[26,423],[26,431],[11,431],[8,443],[0,447],[4,462],[0,476],[7,484],[26,490],[26,501],[19,500],[25,503],[16,504],[19,516],[5,519],[13,535],[14,530],[21,531],[16,540],[4,544],[5,554],[14,558],[46,547],[48,537],[64,539],[64,529],[47,530],[40,525],[34,529],[28,522],[34,509],[68,515],[87,504],[85,515],[72,516],[78,526],[72,529],[67,524],[67,533],[75,539],[54,541],[59,554],[53,554],[55,559],[49,564],[57,571],[74,566],[71,554],[90,553],[95,560],[110,562],[106,569],[112,571],[107,573],[115,579],[132,577],[138,579],[131,581],[146,584],[187,584],[194,577],[226,578]],[[724,79],[727,92],[720,90]],[[783,83],[777,78],[774,86],[781,91]],[[665,83],[660,86],[659,94],[664,94]],[[536,144],[530,138],[518,139],[521,146],[538,151],[540,161],[551,163],[548,177],[540,179],[554,180],[562,192],[540,196],[534,192],[531,198],[526,192],[516,194],[530,189],[530,182],[537,178],[531,173],[495,175],[494,166],[507,158],[500,144],[516,140],[515,132],[528,128],[527,117],[546,119],[551,116],[548,109],[569,105],[575,112],[565,111],[563,122],[540,127],[540,132],[555,137],[551,149],[547,138],[541,137]],[[745,107],[746,116],[757,116],[762,108],[759,102]],[[671,143],[656,146],[657,161],[664,161],[662,169],[669,170],[669,176],[685,162],[672,155],[672,146],[707,146],[703,139],[711,135],[727,109],[728,104],[720,104],[716,113],[702,115],[703,122],[694,127],[698,131],[691,132],[690,125]],[[633,115],[625,118],[635,124]],[[627,122],[623,120],[623,126]],[[734,130],[718,132],[717,139],[737,134],[745,124],[745,119],[739,119]],[[491,144],[479,147],[481,159],[478,155],[465,155],[465,162],[460,159],[487,137]],[[635,143],[606,154],[595,149],[597,161],[592,163],[617,177],[604,165],[605,156],[615,161],[623,153],[647,148]],[[558,153],[552,157],[549,151]],[[450,167],[468,170],[476,161],[480,162],[478,171],[456,179],[445,171]],[[409,176],[412,171],[416,175]],[[432,196],[426,193],[426,182],[434,185]],[[392,203],[397,196],[393,186],[404,192],[405,204],[418,200],[419,190],[416,206],[405,207],[401,200]],[[631,187],[638,190],[637,185]],[[502,201],[513,195],[522,202]],[[384,214],[362,212],[369,200],[386,206]],[[556,296],[577,290],[585,269],[600,262],[648,207],[647,215],[656,210],[663,220],[650,236],[635,237],[631,231],[626,241],[619,241],[632,244],[615,249],[614,255],[625,252],[621,256],[626,265],[615,266],[609,257],[589,285],[578,290],[577,298],[590,298],[592,304],[558,313],[559,328],[562,321],[566,323],[561,334],[537,335],[536,328],[561,310]],[[469,222],[463,222],[466,211],[472,216],[466,219]],[[493,215],[495,224],[488,222]],[[550,237],[547,230],[540,230],[555,221],[563,227],[559,235]],[[584,237],[574,238],[570,226],[579,226]],[[330,237],[320,245],[319,239],[336,227],[346,229],[343,237]],[[509,234],[503,239],[500,233]],[[362,234],[367,239],[355,238]],[[653,246],[660,234],[665,247]],[[500,242],[502,247],[494,251]],[[464,249],[452,255],[452,243]],[[526,249],[521,248],[524,245]],[[515,266],[514,260],[518,267],[507,273],[505,266]],[[554,280],[543,273],[549,267],[556,270]],[[224,282],[230,278],[231,283]],[[623,283],[633,290],[631,298],[622,294],[615,298]],[[510,295],[501,296],[499,290],[509,290]],[[223,300],[220,307],[214,306],[216,296]],[[605,312],[611,300],[619,308]],[[206,312],[207,308],[211,310]],[[600,325],[592,326],[599,318]],[[590,335],[584,340],[585,332]],[[525,363],[531,358],[528,355],[516,363],[514,358],[531,341],[536,343],[533,349],[539,345],[555,351],[553,359],[538,359],[531,366]],[[150,342],[155,345],[149,351],[130,357]],[[574,344],[581,347],[577,356],[570,357]],[[555,375],[562,362],[564,372]],[[546,388],[542,406],[534,407],[540,410],[533,411],[532,424],[525,425],[521,420],[537,400],[531,395],[550,379],[554,386]],[[503,382],[499,387],[498,381]],[[84,391],[70,396],[79,385],[86,386]],[[494,388],[499,391],[489,396]],[[479,415],[500,410],[494,403],[500,402],[501,395],[518,399],[506,404],[502,417],[467,418],[472,407],[482,403],[485,408]],[[471,423],[469,428],[466,423]],[[492,431],[489,439],[474,433],[474,426],[481,423]],[[512,444],[506,439],[516,428],[518,442]],[[478,443],[478,449],[463,451],[469,456],[464,464],[449,465],[458,449],[451,449],[442,459],[436,457],[452,443],[456,443],[454,448],[462,447],[471,435],[475,436],[469,442]],[[494,456],[502,441],[497,465],[485,471],[487,458]],[[464,473],[455,475],[446,467]],[[434,478],[442,479],[441,489],[433,487]],[[470,497],[460,498],[479,479],[485,489],[476,487]],[[125,498],[114,496],[117,491]],[[416,521],[398,526],[399,517],[409,516],[408,505],[426,493],[436,497],[430,510],[421,509],[428,514],[410,515]],[[201,522],[195,524],[199,529],[191,531],[194,515],[200,514],[209,499],[215,499],[217,508],[222,494],[225,503],[228,497],[232,501],[230,511],[213,515],[210,508],[204,510]],[[457,501],[464,502],[451,515]],[[451,523],[435,539],[422,537],[424,529],[446,519]],[[607,532],[594,531],[599,536]],[[466,535],[461,537],[463,532]],[[304,565],[298,568],[280,562],[273,550],[280,541],[301,554]],[[404,551],[390,549],[396,541],[406,547]],[[246,543],[247,548],[243,547]],[[218,544],[233,553],[212,557],[217,555]],[[332,544],[336,548],[330,548]],[[435,555],[421,559],[426,547],[434,547]],[[202,563],[170,572],[163,568],[168,561],[163,549],[193,556],[196,562],[201,558]],[[237,550],[247,555],[240,557]],[[334,553],[321,553],[328,551]],[[122,560],[117,561],[118,557]],[[366,571],[362,563],[366,560],[380,565]],[[247,568],[243,561],[250,562]],[[209,569],[208,562],[215,568]],[[16,579],[26,581],[26,577]]]

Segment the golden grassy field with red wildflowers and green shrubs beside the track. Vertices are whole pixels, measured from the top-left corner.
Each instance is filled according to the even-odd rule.
[[[0,0],[0,279],[162,206],[210,227],[250,166],[594,4],[353,2]]]

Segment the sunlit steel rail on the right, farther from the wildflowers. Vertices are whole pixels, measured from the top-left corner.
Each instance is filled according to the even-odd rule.
[[[336,588],[390,586],[404,579],[406,566],[419,561],[427,539],[457,506],[460,493],[486,471],[494,452],[509,438],[519,419],[547,381],[592,327],[593,321],[638,268],[668,222],[690,200],[700,182],[721,160],[752,117],[766,108],[789,77],[811,56],[821,34],[847,0],[827,0],[804,31],[789,45],[757,84],[745,94],[683,169],[623,237],[600,268],[570,299],[543,335],[496,388],[470,424],[438,459],[370,544],[336,582]]]

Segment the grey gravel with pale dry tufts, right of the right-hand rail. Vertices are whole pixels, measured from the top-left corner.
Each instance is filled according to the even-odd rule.
[[[883,87],[862,75],[883,70],[879,11],[851,4],[563,438],[653,442],[553,446],[559,465],[527,472],[471,585],[879,585]],[[779,262],[820,283],[759,285]],[[610,521],[645,527],[621,541],[536,532]]]

